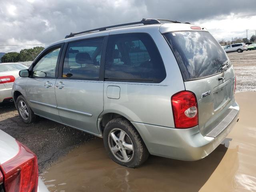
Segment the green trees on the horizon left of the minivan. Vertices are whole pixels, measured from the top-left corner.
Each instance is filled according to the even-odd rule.
[[[22,49],[18,52],[8,52],[4,54],[1,58],[2,63],[8,62],[24,62],[24,61],[33,61],[38,54],[44,50],[44,47],[34,47],[30,49]]]

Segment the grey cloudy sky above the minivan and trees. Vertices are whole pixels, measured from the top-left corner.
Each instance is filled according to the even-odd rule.
[[[256,0],[0,0],[0,45],[50,44],[70,32],[166,18],[206,27],[217,40],[256,30]],[[33,46],[0,46],[0,52]]]

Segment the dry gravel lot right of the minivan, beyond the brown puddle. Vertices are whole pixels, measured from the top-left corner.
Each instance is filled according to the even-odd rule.
[[[236,92],[256,91],[256,50],[228,54],[236,72]]]

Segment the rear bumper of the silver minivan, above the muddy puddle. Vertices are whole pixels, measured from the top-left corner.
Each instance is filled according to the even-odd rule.
[[[236,102],[235,102],[236,103]],[[132,122],[140,133],[148,151],[152,155],[185,161],[194,161],[208,156],[226,138],[238,120],[239,106],[232,120],[216,134],[216,137],[202,136],[198,126],[190,129],[175,129]]]

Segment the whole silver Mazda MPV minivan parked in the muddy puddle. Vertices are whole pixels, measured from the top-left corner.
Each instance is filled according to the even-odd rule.
[[[102,137],[112,160],[135,168],[149,154],[210,154],[238,121],[235,86],[206,28],[143,19],[55,42],[20,71],[12,94],[23,122],[41,116]]]

